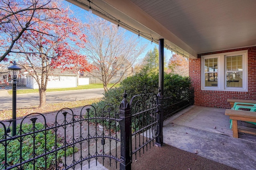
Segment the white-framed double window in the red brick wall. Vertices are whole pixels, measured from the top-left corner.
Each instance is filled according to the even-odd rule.
[[[202,90],[247,91],[247,53],[202,56]]]

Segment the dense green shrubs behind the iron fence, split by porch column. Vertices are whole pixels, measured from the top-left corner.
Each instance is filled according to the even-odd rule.
[[[148,74],[145,71],[138,72],[133,76],[125,78],[119,87],[112,88],[108,92],[104,93],[104,98],[98,103],[94,103],[93,106],[96,108],[98,116],[102,115],[102,109],[106,104],[111,104],[115,109],[116,113],[119,111],[120,103],[123,100],[122,94],[124,90],[128,94],[127,100],[130,101],[132,96],[142,94],[146,84],[147,93],[158,93],[158,74],[150,73]],[[182,90],[188,90],[190,88],[190,78],[182,77],[178,74],[164,74],[164,91],[165,94],[172,95],[176,98],[181,98],[178,94]],[[184,97],[184,96],[182,96]],[[114,117],[114,115],[111,115]],[[105,124],[105,122],[104,122]],[[108,122],[106,122],[108,124]],[[115,127],[113,125],[111,127]]]

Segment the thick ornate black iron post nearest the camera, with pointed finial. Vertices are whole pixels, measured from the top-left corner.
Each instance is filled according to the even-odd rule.
[[[120,130],[121,130],[121,162],[120,162],[120,170],[131,170],[131,148],[130,143],[132,130],[131,130],[131,110],[130,104],[126,100],[127,93],[124,91],[124,99],[122,100],[119,111],[120,111]]]

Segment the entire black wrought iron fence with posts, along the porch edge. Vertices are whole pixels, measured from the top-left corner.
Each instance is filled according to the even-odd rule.
[[[0,121],[0,170],[48,170],[90,168],[92,161],[131,169],[137,159],[154,146],[162,146],[163,121],[194,102],[193,90],[175,94],[127,94],[119,112],[112,105],[96,111],[86,105],[79,111],[64,108],[55,119],[32,113],[17,120],[17,135],[10,135],[12,120]]]

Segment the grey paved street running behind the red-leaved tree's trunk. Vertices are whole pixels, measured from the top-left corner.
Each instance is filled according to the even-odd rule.
[[[46,93],[46,103],[60,103],[103,97],[103,89],[73,90]],[[39,105],[39,93],[17,94],[17,108]],[[12,109],[12,95],[0,96],[0,110]]]

